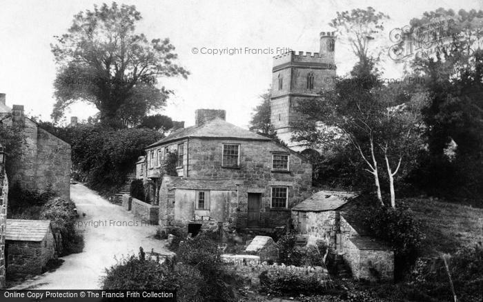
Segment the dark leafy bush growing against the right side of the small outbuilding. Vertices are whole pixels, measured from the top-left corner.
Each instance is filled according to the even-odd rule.
[[[402,278],[417,258],[418,248],[424,239],[420,222],[411,210],[401,203],[399,208],[368,208],[361,213],[364,226],[377,239],[391,244],[395,250],[395,276]]]

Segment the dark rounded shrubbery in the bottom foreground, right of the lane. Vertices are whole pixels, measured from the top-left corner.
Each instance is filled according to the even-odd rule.
[[[103,289],[166,288],[178,291],[178,301],[236,301],[233,283],[237,279],[221,267],[215,241],[203,233],[181,238],[177,256],[165,263],[148,259],[142,249],[139,256],[121,259],[106,270]]]

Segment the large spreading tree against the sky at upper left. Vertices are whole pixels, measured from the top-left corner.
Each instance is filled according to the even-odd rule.
[[[141,20],[135,6],[94,7],[76,14],[68,33],[51,45],[58,66],[52,119],[59,120],[68,105],[86,101],[110,125],[138,123],[172,94],[157,87],[158,79],[186,78],[188,71],[174,63],[169,39],[149,41],[135,32]]]

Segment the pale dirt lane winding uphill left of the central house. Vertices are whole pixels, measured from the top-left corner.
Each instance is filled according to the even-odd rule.
[[[137,254],[140,246],[146,252],[154,249],[170,254],[164,248],[165,241],[152,238],[156,225],[134,219],[131,212],[109,203],[80,183],[70,186],[70,197],[80,214],[77,230],[84,236],[83,252],[63,257],[65,262],[55,272],[46,272],[13,289],[99,289],[101,276],[105,268],[116,263],[115,257]]]

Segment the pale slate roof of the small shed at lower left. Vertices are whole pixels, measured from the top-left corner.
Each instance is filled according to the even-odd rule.
[[[50,220],[7,219],[6,240],[42,241],[50,228]]]

